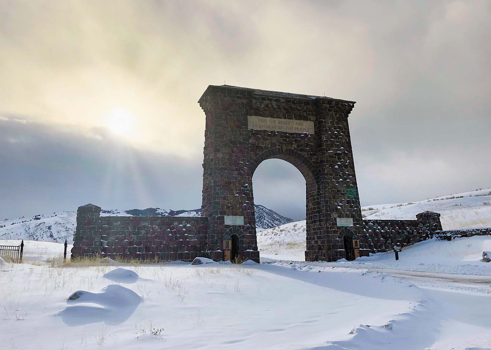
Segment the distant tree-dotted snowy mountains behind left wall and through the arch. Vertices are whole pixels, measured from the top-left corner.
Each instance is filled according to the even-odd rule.
[[[256,204],[256,227],[258,231],[292,222],[275,211]],[[201,216],[201,208],[193,210],[170,210],[161,208],[102,210],[101,216]],[[50,215],[24,216],[14,219],[0,220],[1,239],[26,239],[30,241],[46,241],[73,243],[73,234],[77,225],[75,211],[63,211]]]

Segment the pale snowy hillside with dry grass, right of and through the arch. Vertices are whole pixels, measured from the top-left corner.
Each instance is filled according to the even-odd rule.
[[[364,219],[415,219],[426,210],[441,214],[443,229],[491,226],[491,188],[436,197],[416,202],[378,204],[362,209]],[[305,259],[305,220],[257,233],[261,257],[284,260]]]

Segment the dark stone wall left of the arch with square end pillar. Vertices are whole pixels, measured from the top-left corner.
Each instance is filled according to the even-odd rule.
[[[79,207],[72,256],[192,261],[205,256],[206,217],[103,216],[92,204]]]

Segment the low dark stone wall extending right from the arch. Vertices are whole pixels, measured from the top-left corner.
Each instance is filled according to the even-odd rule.
[[[433,238],[441,230],[440,214],[426,211],[416,220],[363,220],[363,235],[372,253],[392,250]]]

